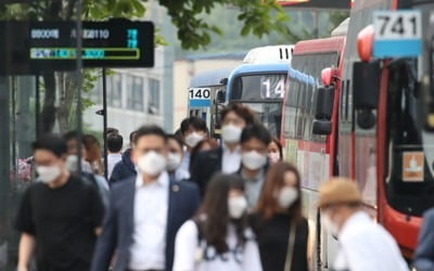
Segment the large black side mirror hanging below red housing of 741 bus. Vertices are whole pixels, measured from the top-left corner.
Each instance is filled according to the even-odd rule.
[[[354,108],[375,109],[379,104],[380,62],[356,62],[353,66]]]

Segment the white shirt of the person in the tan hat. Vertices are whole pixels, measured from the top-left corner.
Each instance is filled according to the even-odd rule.
[[[339,240],[333,270],[408,271],[395,240],[363,211],[348,218]]]

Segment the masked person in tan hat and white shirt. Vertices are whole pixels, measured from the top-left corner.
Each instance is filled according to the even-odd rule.
[[[408,271],[396,241],[361,210],[354,181],[334,178],[323,183],[318,206],[321,224],[340,241],[332,270]]]

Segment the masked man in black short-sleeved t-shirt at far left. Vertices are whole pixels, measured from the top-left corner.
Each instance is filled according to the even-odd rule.
[[[39,181],[26,191],[16,218],[17,270],[28,270],[34,254],[38,270],[89,270],[103,217],[98,191],[69,173],[62,138],[44,136],[33,147]]]

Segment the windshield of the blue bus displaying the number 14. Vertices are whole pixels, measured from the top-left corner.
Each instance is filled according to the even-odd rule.
[[[234,78],[230,101],[267,102],[283,100],[286,74],[242,75]]]

